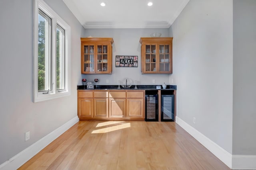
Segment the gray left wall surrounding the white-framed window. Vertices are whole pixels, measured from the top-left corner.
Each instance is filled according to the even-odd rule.
[[[33,103],[33,0],[0,1],[0,164],[77,115],[81,24],[62,0],[46,2],[71,27],[71,95]],[[30,140],[25,142],[26,131]]]

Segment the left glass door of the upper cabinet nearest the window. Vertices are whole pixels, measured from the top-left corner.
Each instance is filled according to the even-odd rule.
[[[84,72],[94,72],[94,45],[84,45]]]

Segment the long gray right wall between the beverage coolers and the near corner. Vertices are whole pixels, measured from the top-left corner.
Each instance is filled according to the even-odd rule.
[[[170,27],[177,116],[230,153],[232,26],[232,0],[190,0]]]

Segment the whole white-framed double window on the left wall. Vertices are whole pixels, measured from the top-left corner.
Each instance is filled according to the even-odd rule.
[[[43,0],[34,16],[34,102],[70,95],[70,27]]]

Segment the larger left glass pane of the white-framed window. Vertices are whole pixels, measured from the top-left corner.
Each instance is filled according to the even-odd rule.
[[[51,18],[38,12],[38,92],[51,90]]]

